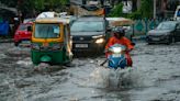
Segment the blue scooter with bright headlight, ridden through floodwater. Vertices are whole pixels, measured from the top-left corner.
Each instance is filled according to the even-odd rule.
[[[103,66],[108,61],[108,68],[113,68],[115,70],[117,68],[124,69],[125,67],[127,67],[127,60],[125,57],[126,46],[114,44],[108,49],[108,53],[110,54],[105,61],[101,64],[101,66]]]

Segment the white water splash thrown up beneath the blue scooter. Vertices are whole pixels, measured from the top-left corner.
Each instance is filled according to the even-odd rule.
[[[109,69],[104,67],[95,68],[88,79],[88,86],[95,88],[132,88],[138,83],[138,74],[132,68]]]

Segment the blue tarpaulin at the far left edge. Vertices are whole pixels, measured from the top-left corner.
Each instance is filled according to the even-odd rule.
[[[9,34],[9,23],[0,22],[0,35],[8,35],[8,34]]]

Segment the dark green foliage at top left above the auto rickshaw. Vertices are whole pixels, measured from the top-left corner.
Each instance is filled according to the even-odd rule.
[[[69,0],[0,0],[0,2],[18,8],[24,14],[32,14],[46,10],[64,10]]]

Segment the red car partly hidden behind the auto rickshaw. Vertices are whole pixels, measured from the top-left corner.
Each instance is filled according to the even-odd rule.
[[[14,45],[18,46],[21,42],[31,41],[32,31],[29,31],[29,27],[32,27],[32,22],[21,23],[14,34]]]

